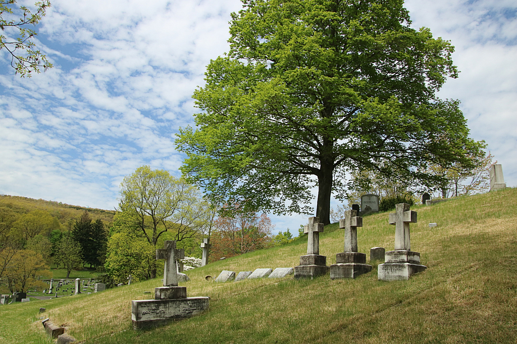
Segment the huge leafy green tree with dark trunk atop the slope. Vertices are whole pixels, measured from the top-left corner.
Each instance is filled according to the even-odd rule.
[[[316,216],[328,224],[349,170],[391,164],[436,183],[428,162],[469,164],[477,146],[458,103],[435,97],[457,77],[453,46],[410,28],[402,0],[243,4],[230,51],[193,95],[196,128],[176,141],[188,155],[181,170],[212,202],[311,214],[317,186]]]

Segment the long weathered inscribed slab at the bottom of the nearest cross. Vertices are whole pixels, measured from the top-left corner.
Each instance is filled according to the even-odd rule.
[[[154,327],[173,319],[190,318],[208,310],[207,296],[175,300],[133,300],[131,321],[133,329]]]

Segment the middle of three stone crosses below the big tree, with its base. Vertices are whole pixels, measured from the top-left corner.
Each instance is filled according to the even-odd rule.
[[[339,228],[345,230],[345,246],[336,255],[336,264],[330,265],[330,279],[356,278],[372,271],[372,265],[366,263],[366,253],[357,252],[357,227],[362,227],[362,217],[355,210],[345,211],[345,218],[339,220]]]

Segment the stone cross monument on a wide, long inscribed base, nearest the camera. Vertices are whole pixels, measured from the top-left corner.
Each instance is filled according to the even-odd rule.
[[[154,300],[131,301],[133,329],[158,326],[172,319],[190,318],[208,309],[207,296],[187,298],[187,287],[178,286],[176,241],[166,240],[163,249],[156,250],[156,259],[165,259],[163,287],[155,288]]]

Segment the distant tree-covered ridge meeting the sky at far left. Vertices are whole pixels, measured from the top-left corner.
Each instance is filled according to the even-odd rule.
[[[72,206],[62,202],[10,195],[0,195],[0,207],[9,208],[19,214],[34,210],[47,211],[52,217],[56,217],[62,225],[68,220],[79,220],[81,214],[87,211],[93,221],[100,218],[104,225],[109,226],[115,215],[115,210]]]

